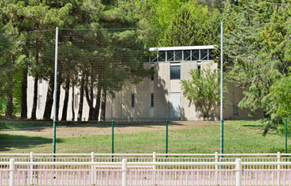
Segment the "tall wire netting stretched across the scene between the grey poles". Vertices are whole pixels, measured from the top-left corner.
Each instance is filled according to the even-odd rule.
[[[223,126],[221,28],[201,27],[208,42],[174,47],[149,45],[161,28],[1,34],[0,151],[50,153],[55,124],[57,153],[213,153],[222,130],[224,153],[285,152],[290,120],[264,118],[287,25],[225,24]]]

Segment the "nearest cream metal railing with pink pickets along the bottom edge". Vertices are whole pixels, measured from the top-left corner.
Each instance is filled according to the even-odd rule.
[[[0,185],[10,186],[291,185],[290,168],[281,168],[281,165],[290,166],[291,162],[241,162],[241,159],[235,162],[128,162],[127,159],[122,162],[17,162],[10,159],[0,164],[9,165],[9,169],[0,170]],[[55,168],[61,165],[67,167]],[[83,168],[74,169],[72,165]],[[181,165],[197,168],[175,168]],[[227,165],[235,168],[227,168]],[[274,165],[277,169],[248,169],[251,165]],[[166,168],[159,168],[161,166]],[[208,168],[201,168],[203,166]]]

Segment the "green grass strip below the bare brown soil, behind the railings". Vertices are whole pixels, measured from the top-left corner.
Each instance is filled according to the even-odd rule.
[[[17,125],[12,127],[17,127]],[[225,121],[223,152],[285,152],[285,137],[278,135],[276,130],[270,130],[263,137],[263,128],[261,121]],[[17,134],[15,132],[1,134],[0,132],[0,141],[0,152],[52,152],[52,137]],[[57,153],[111,153],[112,135],[84,137],[61,137],[61,135],[57,135],[56,149]],[[165,153],[165,130],[114,135],[114,153],[152,152]],[[214,152],[220,152],[219,122],[212,122],[210,125],[197,128],[168,131],[168,153]]]

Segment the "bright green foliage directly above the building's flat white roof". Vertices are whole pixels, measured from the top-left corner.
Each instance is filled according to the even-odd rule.
[[[219,10],[210,12],[196,0],[148,0],[137,5],[145,16],[143,25],[152,27],[146,32],[151,47],[214,45],[212,41],[217,41]]]

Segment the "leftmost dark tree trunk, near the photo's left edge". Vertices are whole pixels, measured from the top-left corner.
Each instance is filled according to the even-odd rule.
[[[12,64],[14,63],[15,57],[12,57]],[[6,97],[6,118],[13,117],[13,73],[8,73],[8,80],[7,80],[7,97]]]

